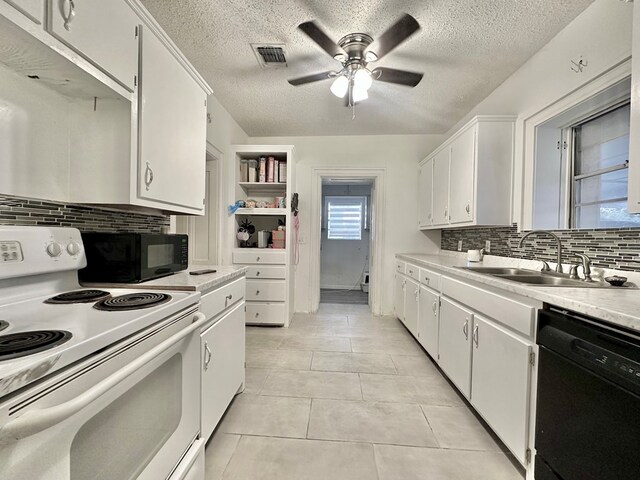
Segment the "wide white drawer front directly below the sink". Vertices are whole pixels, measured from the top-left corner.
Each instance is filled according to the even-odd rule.
[[[449,277],[442,277],[442,293],[528,337],[534,333],[536,308],[542,308],[540,302],[524,297],[516,300],[506,293],[496,293]]]

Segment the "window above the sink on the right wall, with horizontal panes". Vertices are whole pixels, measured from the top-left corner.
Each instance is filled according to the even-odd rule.
[[[570,128],[573,228],[640,226],[627,212],[629,118],[627,103]]]

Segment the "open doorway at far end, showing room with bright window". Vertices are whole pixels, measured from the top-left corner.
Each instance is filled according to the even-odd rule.
[[[371,179],[324,179],[320,303],[368,305]]]

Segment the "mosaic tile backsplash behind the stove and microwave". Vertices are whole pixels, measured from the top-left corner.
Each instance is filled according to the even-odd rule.
[[[0,225],[75,227],[80,231],[160,233],[166,215],[0,195]]]

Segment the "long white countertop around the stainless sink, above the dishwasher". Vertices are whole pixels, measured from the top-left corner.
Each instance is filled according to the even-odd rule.
[[[414,265],[433,268],[443,273],[467,278],[532,298],[577,313],[640,331],[640,290],[631,288],[568,288],[541,287],[502,280],[499,277],[464,270],[459,267],[517,267],[539,269],[540,262],[505,257],[485,256],[483,262],[468,263],[460,255],[397,254],[396,257]],[[618,272],[619,273],[619,272]],[[627,276],[627,275],[625,275]]]

